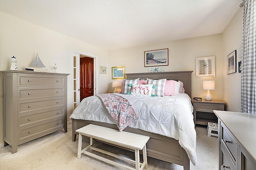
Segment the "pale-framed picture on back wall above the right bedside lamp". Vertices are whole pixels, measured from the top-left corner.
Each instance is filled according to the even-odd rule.
[[[215,77],[215,56],[196,57],[196,77]]]

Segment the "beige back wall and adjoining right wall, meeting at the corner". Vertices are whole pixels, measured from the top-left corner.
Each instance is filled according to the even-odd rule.
[[[126,73],[148,72],[144,67],[144,51],[156,49],[169,49],[169,66],[163,66],[165,71],[194,70],[192,72],[192,97],[206,95],[202,89],[203,80],[215,80],[215,90],[211,90],[213,100],[226,102],[225,110],[240,112],[240,84],[241,73],[227,74],[226,57],[232,51],[242,45],[242,17],[243,10],[240,8],[234,18],[230,21],[222,34],[169,41],[138,47],[119,49],[109,52],[110,70],[112,66],[125,66]],[[213,24],[214,26],[214,24]],[[196,57],[215,56],[216,76],[209,78],[196,78]],[[109,82],[112,82],[111,75]],[[111,86],[109,86],[110,89]]]

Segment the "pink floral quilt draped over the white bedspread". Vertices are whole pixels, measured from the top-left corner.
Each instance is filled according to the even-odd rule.
[[[119,131],[124,130],[124,128],[138,117],[132,104],[126,98],[110,93],[99,94],[97,96],[106,106],[108,112],[116,122]]]

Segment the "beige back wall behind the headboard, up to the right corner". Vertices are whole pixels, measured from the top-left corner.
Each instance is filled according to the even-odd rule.
[[[222,100],[222,47],[222,35],[217,34],[120,49],[109,52],[109,67],[124,65],[126,73],[148,72],[148,67],[144,67],[144,51],[168,48],[169,65],[163,66],[166,72],[193,70],[192,97],[204,98],[207,92],[202,88],[203,80],[215,80],[215,90],[210,93],[214,100]],[[215,56],[216,76],[196,78],[196,57],[207,56]],[[111,75],[109,81],[112,81]]]

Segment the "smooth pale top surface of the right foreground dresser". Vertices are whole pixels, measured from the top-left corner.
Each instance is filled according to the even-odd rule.
[[[219,110],[214,113],[256,161],[256,114]]]

